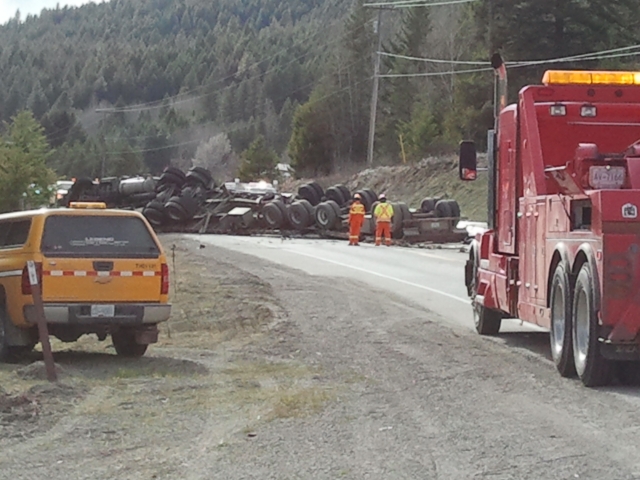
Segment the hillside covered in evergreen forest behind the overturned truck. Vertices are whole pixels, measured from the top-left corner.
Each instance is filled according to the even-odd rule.
[[[492,51],[638,67],[637,0],[411,3],[382,14],[379,163],[401,161],[401,146],[411,161],[463,137],[482,143]],[[366,158],[377,15],[362,0],[112,0],[18,14],[0,26],[0,118],[8,129],[30,110],[58,175],[171,163],[228,177],[258,147],[328,172]],[[594,52],[607,53],[571,58]],[[515,93],[549,64],[511,67]]]

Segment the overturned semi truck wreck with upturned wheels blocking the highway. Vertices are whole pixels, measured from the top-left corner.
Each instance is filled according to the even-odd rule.
[[[159,232],[218,234],[315,234],[346,238],[348,215],[355,193],[366,209],[363,235],[375,233],[371,212],[378,196],[369,188],[351,192],[345,185],[326,190],[317,182],[297,193],[281,193],[268,182],[228,182],[216,185],[206,169],[186,173],[168,167],[159,177],[106,178],[77,181],[62,199],[99,201],[109,208],[139,209]],[[457,228],[460,207],[455,200],[426,198],[420,208],[392,203],[392,235],[407,243],[460,242],[467,237]]]

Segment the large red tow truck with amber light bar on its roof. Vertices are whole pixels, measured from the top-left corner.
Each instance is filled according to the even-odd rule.
[[[475,326],[518,318],[550,331],[564,377],[640,377],[640,72],[558,71],[507,105],[498,56],[489,132],[489,229],[465,282]],[[473,142],[460,145],[473,180]]]

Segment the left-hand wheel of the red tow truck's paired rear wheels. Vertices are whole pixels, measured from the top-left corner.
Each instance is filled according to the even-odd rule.
[[[573,377],[576,368],[573,361],[571,285],[563,264],[556,267],[551,281],[551,357],[560,375]]]

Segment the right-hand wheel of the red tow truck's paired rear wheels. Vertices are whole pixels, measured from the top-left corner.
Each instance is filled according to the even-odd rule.
[[[593,273],[585,263],[578,273],[573,294],[573,357],[578,377],[587,387],[607,385],[612,362],[602,356],[598,341],[596,291]]]

